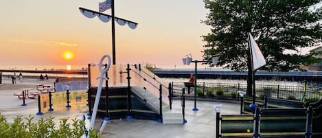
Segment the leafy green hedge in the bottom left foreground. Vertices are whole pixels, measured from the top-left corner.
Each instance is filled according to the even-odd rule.
[[[0,136],[6,138],[24,137],[82,137],[84,135],[84,122],[81,119],[72,119],[73,124],[68,124],[67,119],[60,119],[60,124],[55,127],[54,118],[39,119],[38,122],[33,121],[34,117],[17,116],[11,124],[7,122],[5,117],[0,114]],[[101,137],[100,133],[90,130],[90,137]]]

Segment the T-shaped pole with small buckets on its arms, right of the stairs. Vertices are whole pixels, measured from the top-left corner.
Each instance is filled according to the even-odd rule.
[[[183,65],[190,65],[190,62],[194,62],[194,108],[192,108],[192,111],[198,111],[197,108],[197,65],[198,62],[209,62],[208,60],[194,60],[192,61],[192,56],[187,55],[187,58],[183,58]],[[214,65],[217,65],[218,63],[218,58],[214,57],[212,58],[212,63]]]

